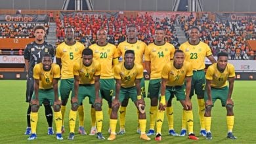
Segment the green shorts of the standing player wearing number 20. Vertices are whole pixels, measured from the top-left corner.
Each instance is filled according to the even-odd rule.
[[[110,104],[116,95],[116,82],[114,79],[100,79],[100,94]]]

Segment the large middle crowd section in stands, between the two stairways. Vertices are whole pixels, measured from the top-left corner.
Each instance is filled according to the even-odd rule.
[[[171,16],[171,18],[164,18],[160,20],[156,18],[153,20],[152,16],[145,14],[144,16],[131,16],[127,18],[126,16],[117,16],[115,18],[107,18],[106,16],[94,16],[86,15],[84,17],[79,17],[77,15],[73,17],[64,16],[61,20],[59,17],[56,18],[56,37],[58,43],[64,41],[65,33],[64,29],[66,26],[72,26],[75,29],[75,37],[77,41],[81,41],[85,46],[89,46],[96,42],[96,32],[100,28],[106,29],[108,32],[108,42],[118,45],[126,39],[126,27],[129,25],[135,25],[138,31],[138,39],[144,41],[146,44],[152,43],[154,41],[154,33],[156,28],[163,27],[166,32],[166,41],[178,45],[178,37],[175,35],[175,23],[176,17]]]

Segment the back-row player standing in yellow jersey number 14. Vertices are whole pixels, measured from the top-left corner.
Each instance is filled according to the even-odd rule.
[[[148,45],[145,50],[145,67],[150,75],[148,85],[148,97],[150,98],[150,130],[147,135],[155,134],[156,113],[158,109],[158,96],[161,87],[161,71],[165,63],[173,59],[175,48],[170,43],[165,42],[165,31],[156,29],[154,43]],[[177,135],[173,129],[173,107],[167,105],[167,119],[169,124],[169,134]]]

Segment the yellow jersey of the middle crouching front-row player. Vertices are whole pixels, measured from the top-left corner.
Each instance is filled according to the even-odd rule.
[[[142,79],[143,66],[135,63],[132,69],[126,69],[124,62],[118,63],[114,67],[115,79],[121,79],[121,86],[123,88],[131,88],[135,86],[135,79]]]

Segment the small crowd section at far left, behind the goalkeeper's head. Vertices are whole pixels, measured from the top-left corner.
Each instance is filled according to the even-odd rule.
[[[33,27],[37,25],[45,26],[47,33],[49,32],[48,24],[35,23],[0,23],[1,38],[33,38]]]

